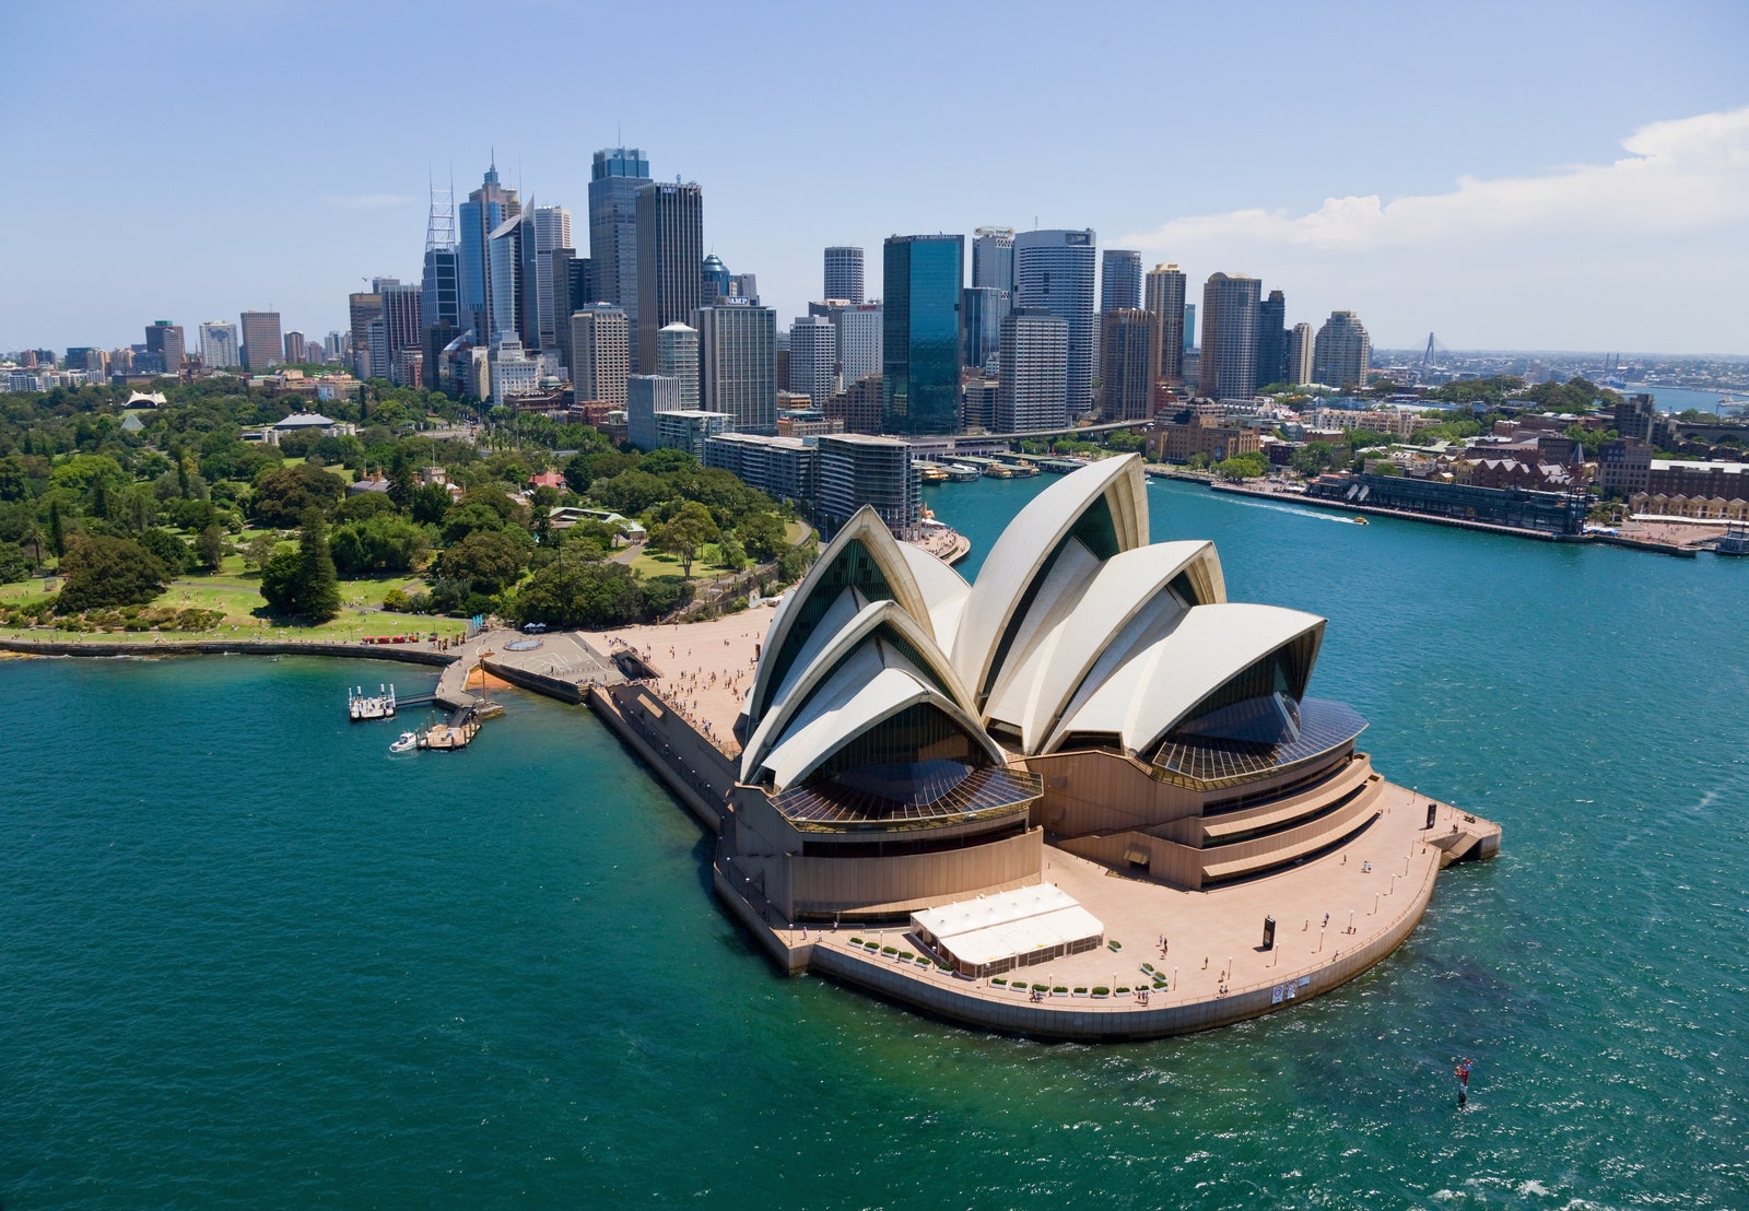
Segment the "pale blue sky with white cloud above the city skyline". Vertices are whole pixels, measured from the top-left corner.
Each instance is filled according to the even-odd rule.
[[[995,224],[1352,308],[1385,346],[1749,354],[1749,4],[84,4],[7,12],[0,350],[416,280],[490,149],[705,191],[778,322],[820,248]]]

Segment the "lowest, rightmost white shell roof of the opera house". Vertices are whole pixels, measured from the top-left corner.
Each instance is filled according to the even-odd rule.
[[[1270,653],[1296,639],[1313,644],[1310,676],[1324,620],[1280,606],[1198,606],[1172,630],[1112,670],[1046,740],[1055,751],[1070,733],[1116,735],[1140,752],[1188,716],[1196,704]],[[1305,690],[1296,686],[1296,693]]]

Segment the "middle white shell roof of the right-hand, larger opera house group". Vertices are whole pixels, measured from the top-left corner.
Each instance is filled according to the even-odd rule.
[[[1193,588],[1188,602],[1168,590],[1181,572]],[[1021,751],[1035,752],[1125,628],[1139,618],[1167,623],[1210,597],[1219,602],[1223,592],[1214,542],[1156,542],[1105,560],[1077,581],[1074,600],[1053,611],[1042,634],[1016,640],[985,716],[1018,728]]]

